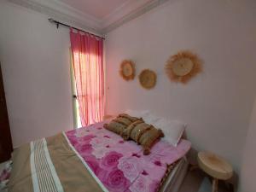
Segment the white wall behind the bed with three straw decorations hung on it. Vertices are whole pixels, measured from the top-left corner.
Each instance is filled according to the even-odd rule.
[[[255,96],[255,1],[170,0],[107,36],[107,113],[150,109],[188,123],[193,147],[223,155],[239,171]],[[204,73],[176,84],[164,72],[166,60],[191,49]],[[119,77],[124,59],[137,73],[153,69],[157,84],[143,90]]]

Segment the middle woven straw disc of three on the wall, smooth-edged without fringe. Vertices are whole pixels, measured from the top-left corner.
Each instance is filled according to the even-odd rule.
[[[139,81],[143,88],[150,90],[156,84],[156,74],[149,69],[144,69],[139,75]]]

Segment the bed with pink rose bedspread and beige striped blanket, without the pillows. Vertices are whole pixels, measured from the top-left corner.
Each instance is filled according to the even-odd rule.
[[[104,123],[16,148],[9,192],[177,192],[189,141],[182,139],[177,147],[160,141],[143,155],[141,146],[104,129]]]

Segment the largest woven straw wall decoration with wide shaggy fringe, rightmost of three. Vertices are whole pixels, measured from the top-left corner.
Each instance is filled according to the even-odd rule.
[[[166,74],[170,80],[186,84],[202,71],[202,61],[188,50],[172,55],[166,63]]]

